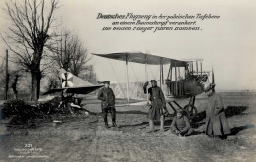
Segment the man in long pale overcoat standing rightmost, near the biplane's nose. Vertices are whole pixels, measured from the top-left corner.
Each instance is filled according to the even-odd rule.
[[[215,93],[215,84],[205,87],[209,96],[206,108],[206,135],[226,139],[231,133],[224,113],[224,104],[220,95]]]

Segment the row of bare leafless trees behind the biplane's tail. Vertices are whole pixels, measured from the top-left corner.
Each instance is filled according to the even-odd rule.
[[[8,0],[5,3],[9,24],[1,37],[12,52],[10,61],[15,68],[9,73],[12,80],[9,87],[15,97],[17,84],[26,73],[31,76],[32,101],[39,98],[42,78],[48,79],[48,88],[60,85],[57,72],[60,68],[86,81],[97,80],[87,48],[78,35],[63,29],[56,18],[60,6],[59,0]],[[5,82],[3,77],[0,84]]]

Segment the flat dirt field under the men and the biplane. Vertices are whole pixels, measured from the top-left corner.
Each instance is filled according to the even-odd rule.
[[[6,129],[2,124],[0,161],[256,161],[256,93],[220,94],[232,130],[226,140],[203,133],[172,135],[170,117],[165,120],[165,132],[157,123],[157,131],[147,133],[147,107],[118,107],[119,127],[105,129],[99,101],[88,98],[93,115],[52,116],[30,129]],[[193,127],[198,130],[204,127],[204,102],[196,100],[199,113]],[[62,123],[54,125],[53,120]]]

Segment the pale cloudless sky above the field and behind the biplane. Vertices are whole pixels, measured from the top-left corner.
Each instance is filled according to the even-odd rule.
[[[204,59],[203,69],[213,67],[219,90],[256,89],[256,2],[254,0],[65,0],[56,18],[79,35],[89,53],[139,51],[173,59]],[[0,2],[4,6],[3,1]],[[98,13],[136,15],[211,14],[219,19],[196,20],[198,31],[113,31],[113,20],[96,19]],[[1,12],[0,31],[6,29]],[[123,27],[121,25],[115,27]],[[60,29],[60,28],[56,28]],[[7,47],[0,41],[0,56]],[[0,57],[0,64],[2,63]],[[94,56],[99,81],[126,81],[124,62]],[[145,81],[144,65],[130,64],[130,81]],[[156,77],[159,67],[148,69]],[[167,67],[164,68],[167,71]],[[154,75],[150,75],[154,74]]]

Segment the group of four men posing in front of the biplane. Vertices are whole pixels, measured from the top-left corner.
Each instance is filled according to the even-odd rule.
[[[168,113],[164,94],[160,87],[157,86],[156,80],[151,80],[151,87],[147,88],[148,82],[143,86],[144,93],[150,95],[150,109],[148,111],[150,132],[154,132],[154,121],[160,121],[160,130],[164,131],[164,114]],[[110,81],[102,81],[104,87],[98,93],[98,99],[101,100],[102,114],[105,127],[109,128],[107,113],[111,113],[113,127],[116,124],[115,95],[109,87]],[[215,93],[215,84],[205,87],[205,93],[209,96],[206,107],[206,127],[205,133],[210,137],[226,138],[230,134],[230,129],[224,113],[224,105],[220,95]],[[171,131],[175,135],[188,136],[193,133],[189,119],[182,110],[178,110],[171,123]]]

